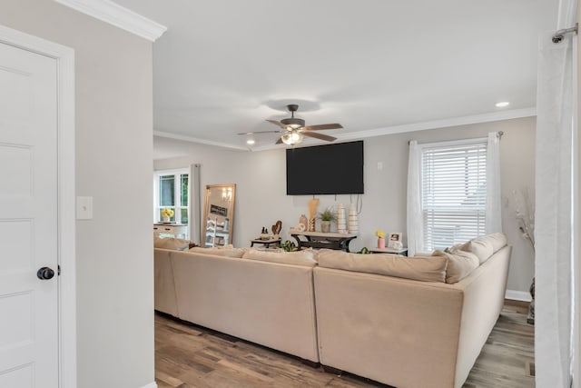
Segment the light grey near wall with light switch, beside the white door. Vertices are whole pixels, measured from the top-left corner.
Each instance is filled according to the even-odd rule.
[[[78,386],[143,387],[154,381],[152,44],[52,0],[1,8],[0,24],[75,50],[76,194],[94,197],[94,219],[76,225]]]

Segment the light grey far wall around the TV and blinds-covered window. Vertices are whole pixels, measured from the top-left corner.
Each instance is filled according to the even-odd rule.
[[[534,189],[535,165],[534,118],[472,124],[451,128],[391,134],[365,139],[365,194],[361,195],[359,236],[350,244],[351,251],[376,243],[376,229],[403,232],[406,240],[406,184],[408,141],[420,143],[483,137],[488,132],[503,131],[501,141],[503,195],[503,227],[510,244],[514,245],[508,289],[527,292],[533,277],[533,252],[517,231],[514,209],[508,200],[513,190]],[[289,239],[288,230],[299,221],[300,214],[309,214],[310,195],[286,195],[286,162],[283,149],[263,152],[228,151],[202,144],[190,144],[156,137],[154,148],[174,147],[187,156],[154,161],[154,169],[202,164],[202,186],[205,184],[237,184],[234,220],[234,244],[248,246],[262,226],[282,221],[282,238]],[[377,169],[378,163],[383,170]],[[356,195],[320,195],[320,207],[336,203],[355,202]]]

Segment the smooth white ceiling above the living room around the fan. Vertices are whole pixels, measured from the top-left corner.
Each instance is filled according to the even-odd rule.
[[[290,103],[307,124],[343,124],[324,132],[340,140],[534,114],[553,15],[540,0],[115,3],[168,27],[153,44],[155,134],[242,149],[237,133],[276,130],[265,120]]]

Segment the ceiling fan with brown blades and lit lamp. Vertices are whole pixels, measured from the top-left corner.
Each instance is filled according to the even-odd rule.
[[[269,123],[275,124],[284,131],[261,131],[261,132],[246,132],[243,134],[282,134],[276,144],[299,144],[302,142],[303,136],[314,137],[315,139],[325,140],[332,142],[337,140],[336,137],[330,136],[328,134],[319,134],[315,131],[320,131],[324,129],[338,129],[342,128],[341,124],[319,124],[319,125],[305,125],[305,121],[299,117],[295,117],[294,113],[299,109],[298,104],[288,104],[287,109],[291,112],[291,117],[283,118],[280,122],[275,120],[266,120]]]

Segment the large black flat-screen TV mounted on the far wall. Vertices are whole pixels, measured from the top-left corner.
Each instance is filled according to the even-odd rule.
[[[363,142],[287,149],[287,195],[363,194]]]

